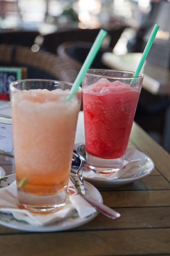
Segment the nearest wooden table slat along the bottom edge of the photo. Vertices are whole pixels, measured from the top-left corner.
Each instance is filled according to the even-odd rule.
[[[18,251],[20,255],[24,256],[53,256],[56,254],[70,256],[148,255],[151,252],[151,255],[159,255],[158,252],[160,254],[169,253],[169,232],[170,229],[147,229],[147,232],[146,229],[130,229],[43,233],[41,235],[8,235],[5,236],[3,247],[2,241],[0,241],[0,246],[3,256],[8,255],[6,251],[8,251],[9,244],[13,248],[12,256],[18,256]],[[77,237],[79,237],[79,241],[77,241]],[[70,249],[73,246],[74,249]]]

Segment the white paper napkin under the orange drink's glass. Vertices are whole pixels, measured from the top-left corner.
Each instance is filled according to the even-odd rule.
[[[73,185],[71,180],[69,180],[68,185]],[[96,209],[94,209],[94,207],[87,203],[87,201],[79,194],[76,194],[69,196],[66,206],[58,212],[48,213],[47,215],[34,214],[27,210],[18,209],[16,182],[12,183],[8,187],[0,189],[0,212],[11,213],[15,219],[24,220],[31,225],[42,226],[58,222],[71,216],[75,210],[77,210],[81,219],[96,213]]]

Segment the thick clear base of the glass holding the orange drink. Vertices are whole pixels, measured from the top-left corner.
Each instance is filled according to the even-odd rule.
[[[66,204],[66,189],[64,188],[63,191],[49,196],[36,196],[25,193],[18,188],[17,199],[20,209],[25,209],[32,213],[57,212]]]

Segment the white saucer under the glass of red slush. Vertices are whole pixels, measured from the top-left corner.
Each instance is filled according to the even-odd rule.
[[[76,149],[78,145],[79,144],[76,144],[74,146],[74,149]],[[145,153],[142,153],[137,149],[128,148],[128,150],[126,151],[125,160],[132,161],[136,159],[139,159],[138,165],[133,167],[133,170],[129,169],[129,171],[126,172],[125,175],[117,179],[109,180],[107,178],[103,178],[102,174],[101,174],[101,177],[99,177],[99,174],[95,174],[95,172],[90,171],[89,169],[86,169],[86,167],[84,167],[84,171],[83,171],[84,180],[89,181],[91,184],[97,187],[115,187],[115,186],[125,185],[128,183],[133,183],[151,174],[151,172],[155,167],[152,159],[149,158],[149,156],[145,155]],[[91,177],[91,175],[93,175],[93,177]]]

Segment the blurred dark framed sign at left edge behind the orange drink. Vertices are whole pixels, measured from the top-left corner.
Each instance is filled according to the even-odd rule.
[[[0,67],[0,100],[9,100],[9,84],[27,76],[27,68]]]

